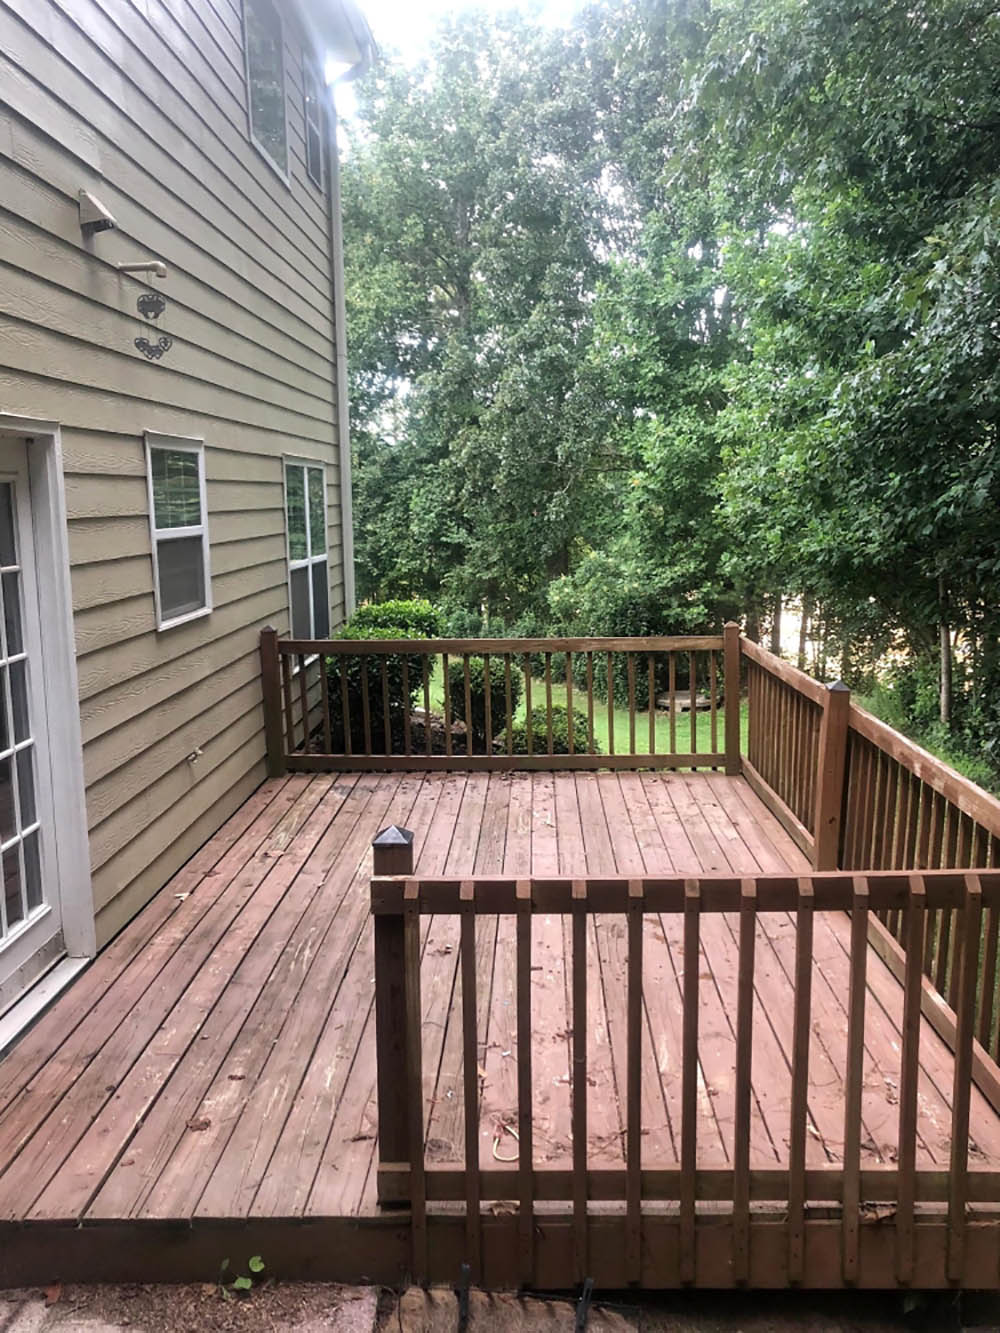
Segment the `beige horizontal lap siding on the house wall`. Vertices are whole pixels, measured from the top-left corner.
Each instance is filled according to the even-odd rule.
[[[344,615],[325,195],[247,132],[229,0],[0,0],[0,412],[63,428],[99,942],[264,776],[257,633],[288,628],[281,459],[327,465]],[[77,191],[117,228],[84,241]],[[160,259],[161,320],[119,263]],[[140,336],[173,340],[159,361]],[[205,441],[212,615],[156,632],[144,432]]]

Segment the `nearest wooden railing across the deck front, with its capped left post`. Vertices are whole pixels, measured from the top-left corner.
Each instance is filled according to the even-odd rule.
[[[813,1281],[808,1233],[827,1229],[829,1217],[811,1216],[815,1205],[836,1206],[839,1216],[839,1269],[844,1284],[863,1280],[865,1256],[861,1233],[875,1209],[879,1236],[873,1244],[885,1256],[903,1285],[920,1284],[920,1246],[916,1233],[927,1224],[927,1206],[936,1205],[944,1228],[947,1280],[968,1280],[965,1249],[967,1205],[1000,1204],[1000,1172],[971,1169],[969,1102],[973,1061],[973,1014],[983,909],[1000,906],[1000,874],[899,874],[881,872],[807,877],[753,878],[413,878],[409,834],[389,830],[376,840],[376,877],[371,886],[375,916],[375,990],[379,1060],[379,1196],[384,1204],[407,1204],[412,1224],[412,1273],[428,1274],[428,1205],[464,1202],[464,1253],[473,1280],[483,1260],[483,1205],[515,1200],[517,1210],[519,1270],[531,1285],[536,1268],[536,1226],[543,1225],[536,1205],[561,1202],[572,1216],[573,1272],[591,1272],[589,1204],[617,1202],[624,1226],[624,1280],[649,1285],[699,1281],[697,1232],[715,1226],[713,1245],[731,1245],[731,1276],[757,1285]],[[379,873],[383,872],[383,873]],[[387,877],[388,872],[395,876]],[[624,917],[627,969],[621,977],[627,1013],[624,1168],[593,1168],[587,1137],[587,918],[589,913]],[[752,1169],[751,1069],[755,1005],[755,940],[763,912],[795,913],[795,982],[792,1014],[792,1068],[788,1120],[788,1157],[780,1169]],[[843,1106],[843,1161],[807,1166],[808,1089],[811,1045],[811,992],[813,920],[816,913],[851,916],[849,994],[845,1093]],[[951,1112],[951,1158],[947,1170],[916,1166],[917,1081],[920,1068],[920,996],[923,945],[931,913],[953,917],[956,941],[956,1041]],[[427,1124],[421,1054],[420,918],[423,914],[460,918],[461,1030],[464,1056],[464,1161],[436,1165],[425,1158]],[[532,922],[535,916],[557,914],[571,925],[572,949],[572,1061],[571,1158],[536,1162],[532,1141]],[[732,913],[737,920],[739,984],[735,1040],[735,1124],[732,1164],[708,1168],[699,1158],[699,966],[683,977],[680,1050],[681,1124],[675,1161],[648,1161],[643,1153],[641,1025],[644,1006],[643,936],[647,913],[683,918],[684,957],[696,960],[707,913]],[[861,1093],[865,1060],[865,1000],[868,929],[872,913],[895,913],[904,922],[909,949],[904,968],[903,1052],[899,1084],[899,1150],[891,1166],[861,1166]],[[477,1026],[479,978],[476,918],[480,914],[516,917],[516,1042],[517,1162],[504,1168],[480,1164],[481,1036]],[[607,978],[605,978],[607,985]],[[709,1216],[703,1204],[712,1201]],[[761,1217],[763,1202],[780,1205]],[[647,1272],[647,1226],[653,1225],[648,1204],[676,1205],[676,1246],[657,1252],[656,1273]],[[879,1213],[877,1205],[885,1205]],[[731,1220],[720,1228],[719,1209]],[[933,1212],[933,1209],[932,1209]],[[755,1241],[755,1228],[771,1230]],[[780,1228],[780,1230],[775,1230]],[[871,1234],[873,1228],[867,1228]],[[607,1234],[607,1233],[604,1233]],[[780,1236],[776,1241],[775,1237]],[[617,1241],[616,1241],[617,1244]],[[752,1262],[752,1254],[756,1260]],[[763,1256],[763,1257],[761,1257]],[[895,1257],[893,1257],[895,1256]],[[995,1258],[993,1258],[995,1268]],[[719,1272],[719,1269],[716,1269]],[[871,1277],[871,1270],[869,1270]],[[992,1278],[991,1278],[992,1281]],[[832,1285],[827,1270],[821,1285]]]

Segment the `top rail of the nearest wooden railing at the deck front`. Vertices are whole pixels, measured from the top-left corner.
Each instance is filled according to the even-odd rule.
[[[535,913],[623,913],[639,897],[644,912],[683,913],[685,902],[691,902],[689,889],[697,896],[700,912],[739,912],[748,893],[756,912],[793,912],[807,896],[820,912],[849,910],[859,898],[872,910],[900,910],[909,902],[915,880],[923,881],[928,908],[960,908],[971,888],[979,888],[984,906],[1000,906],[1000,870],[872,870],[867,874],[825,870],[697,878],[381,876],[371,884],[371,910],[375,916],[396,916],[408,905],[423,914],[505,916],[524,910],[528,902]]]

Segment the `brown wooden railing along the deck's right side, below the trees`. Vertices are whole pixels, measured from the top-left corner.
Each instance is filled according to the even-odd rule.
[[[1000,801],[908,741],[836,682],[819,685],[741,639],[748,754],[743,773],[817,869],[1000,868]],[[872,914],[871,944],[900,981],[912,948],[900,912]],[[1000,913],[981,921],[973,1074],[1000,1112]],[[925,1017],[953,1048],[961,969],[956,909],[935,908],[921,938]]]

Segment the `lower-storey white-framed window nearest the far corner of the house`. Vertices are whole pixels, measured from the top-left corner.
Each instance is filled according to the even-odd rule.
[[[285,464],[285,517],[292,639],[328,639],[327,476],[321,465]]]

